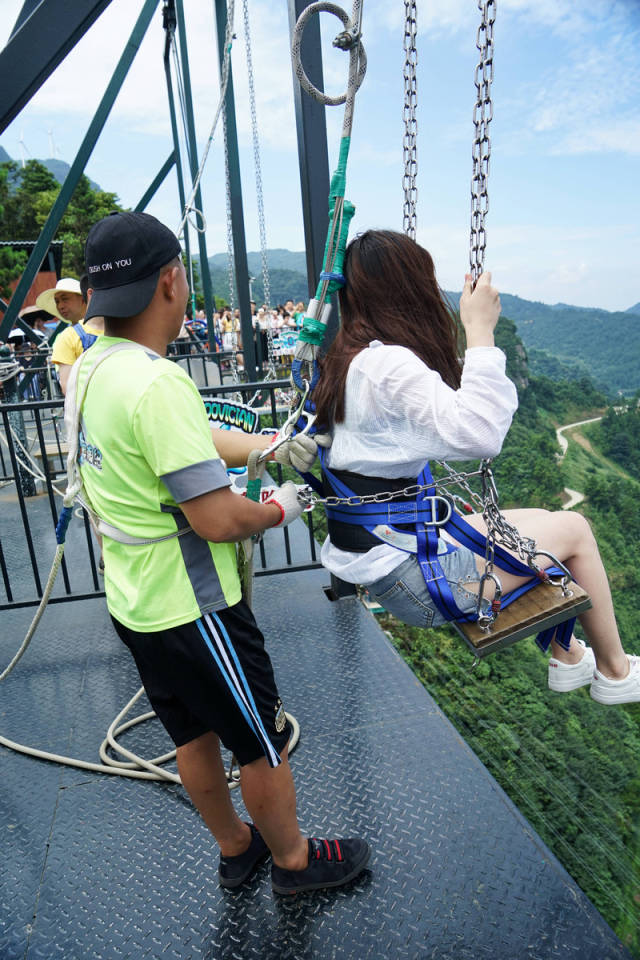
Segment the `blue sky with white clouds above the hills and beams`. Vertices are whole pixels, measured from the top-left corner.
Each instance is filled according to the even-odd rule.
[[[3,0],[0,43],[21,0]],[[113,0],[0,144],[13,157],[69,162],[104,92],[139,3]],[[196,125],[204,143],[218,96],[211,0],[187,0]],[[351,5],[347,5],[350,12]],[[625,310],[640,301],[640,3],[498,0],[487,269],[497,286],[546,303]],[[364,0],[369,68],[356,98],[347,196],[353,230],[402,227],[404,4]],[[285,0],[249,0],[261,132],[267,243],[300,250],[303,231]],[[418,239],[438,277],[459,289],[468,264],[473,82],[479,13],[473,0],[418,2]],[[323,14],[325,86],[344,88],[346,55]],[[242,5],[233,70],[247,244],[258,249]],[[161,4],[89,161],[87,173],[134,205],[171,150],[162,71]],[[342,108],[328,108],[330,166]],[[50,134],[49,131],[52,131]],[[27,152],[28,151],[28,152]],[[226,249],[222,139],[203,178],[207,244]],[[169,176],[149,211],[180,221]]]

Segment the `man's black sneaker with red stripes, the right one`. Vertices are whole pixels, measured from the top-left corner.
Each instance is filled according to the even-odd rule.
[[[309,837],[309,864],[304,870],[284,870],[271,864],[276,893],[302,893],[341,887],[366,867],[371,850],[366,840],[318,840]]]

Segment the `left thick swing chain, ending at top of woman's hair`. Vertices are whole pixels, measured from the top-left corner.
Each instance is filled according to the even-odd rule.
[[[416,238],[418,200],[418,51],[417,36],[417,9],[415,0],[405,0],[404,4],[404,137],[402,141],[404,156],[404,175],[402,187],[404,189],[403,230],[412,240]]]

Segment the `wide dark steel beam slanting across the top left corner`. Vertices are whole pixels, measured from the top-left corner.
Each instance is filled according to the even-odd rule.
[[[0,53],[0,133],[29,102],[111,0],[27,0]]]

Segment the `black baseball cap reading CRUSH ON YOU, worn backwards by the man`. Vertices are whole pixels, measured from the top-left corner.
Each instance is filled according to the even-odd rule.
[[[89,287],[85,319],[135,317],[151,302],[160,268],[181,254],[175,233],[150,213],[111,213],[85,246]]]

